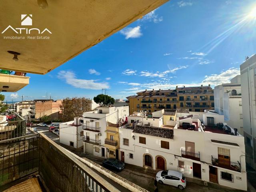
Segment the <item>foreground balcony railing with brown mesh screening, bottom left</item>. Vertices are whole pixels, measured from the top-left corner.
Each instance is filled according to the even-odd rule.
[[[24,186],[26,191],[146,191],[42,133],[0,141],[0,146],[1,191],[16,191]]]

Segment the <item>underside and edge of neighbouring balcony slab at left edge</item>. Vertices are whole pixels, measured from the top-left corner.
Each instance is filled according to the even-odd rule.
[[[0,92],[16,92],[28,84],[29,77],[0,74]]]

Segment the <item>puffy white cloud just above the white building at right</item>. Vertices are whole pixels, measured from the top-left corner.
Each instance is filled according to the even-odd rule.
[[[222,71],[220,74],[212,74],[210,76],[205,76],[202,83],[219,85],[222,83],[230,83],[230,79],[240,75],[240,70],[238,68],[230,68],[226,71]]]

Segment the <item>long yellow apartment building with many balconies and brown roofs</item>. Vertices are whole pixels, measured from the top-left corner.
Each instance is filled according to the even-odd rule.
[[[128,96],[130,114],[141,110],[154,112],[161,109],[188,108],[203,112],[214,108],[214,92],[208,86],[182,87],[174,90],[145,90],[136,96]]]

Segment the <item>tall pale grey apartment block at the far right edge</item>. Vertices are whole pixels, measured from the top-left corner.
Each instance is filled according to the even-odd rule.
[[[240,65],[246,162],[256,170],[256,54]]]

